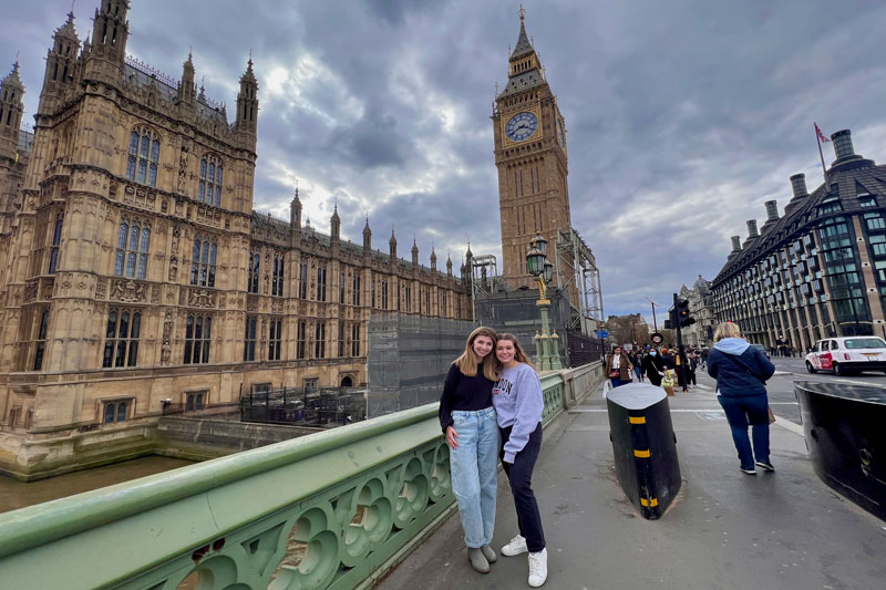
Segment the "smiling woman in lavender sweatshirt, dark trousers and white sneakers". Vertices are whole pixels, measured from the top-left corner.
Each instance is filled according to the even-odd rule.
[[[542,515],[532,488],[533,469],[542,451],[542,382],[517,337],[502,334],[495,345],[498,383],[492,390],[492,403],[502,435],[502,467],[511,483],[517,509],[519,535],[502,547],[502,555],[529,552],[529,586],[547,580],[547,549]]]

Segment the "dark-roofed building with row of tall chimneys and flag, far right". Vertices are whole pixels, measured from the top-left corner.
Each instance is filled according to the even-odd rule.
[[[766,206],[758,232],[712,281],[719,321],[738,322],[752,342],[805,350],[827,337],[882,334],[886,298],[886,166],[856,154],[848,130],[831,136],[836,159],[810,194],[791,177],[793,197],[779,217]]]

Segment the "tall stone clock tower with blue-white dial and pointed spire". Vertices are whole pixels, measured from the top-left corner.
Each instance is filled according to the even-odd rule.
[[[519,37],[508,60],[508,80],[495,99],[493,130],[498,168],[504,276],[525,280],[526,250],[539,231],[548,260],[558,265],[557,231],[570,228],[566,184],[566,128],[529,39],[521,8]]]

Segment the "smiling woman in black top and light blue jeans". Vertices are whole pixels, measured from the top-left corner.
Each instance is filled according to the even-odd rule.
[[[450,446],[452,491],[459,503],[471,567],[488,573],[498,487],[498,425],[492,387],[498,380],[497,334],[480,327],[450,366],[440,397],[440,426]]]

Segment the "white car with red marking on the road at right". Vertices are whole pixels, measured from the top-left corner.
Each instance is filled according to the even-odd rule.
[[[878,337],[828,338],[815,343],[806,354],[806,371],[833,371],[846,375],[861,371],[886,370],[886,341]]]

